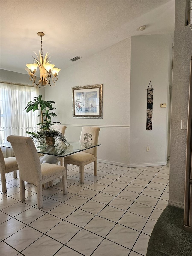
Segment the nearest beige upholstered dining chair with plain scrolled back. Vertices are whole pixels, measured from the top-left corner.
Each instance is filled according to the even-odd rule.
[[[38,208],[43,207],[42,185],[62,176],[63,194],[67,194],[67,176],[63,166],[40,164],[38,152],[32,138],[10,135],[7,137],[12,145],[19,167],[20,196],[25,201],[25,181],[37,186]]]

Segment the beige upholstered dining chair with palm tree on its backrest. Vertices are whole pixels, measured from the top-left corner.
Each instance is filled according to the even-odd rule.
[[[98,143],[99,127],[82,127],[80,143]],[[64,157],[64,167],[67,173],[67,164],[78,165],[80,170],[81,184],[84,183],[84,166],[94,162],[94,176],[97,176],[97,147],[77,152]]]

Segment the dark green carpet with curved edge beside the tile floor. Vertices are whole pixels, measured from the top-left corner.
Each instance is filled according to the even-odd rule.
[[[184,209],[167,206],[149,239],[146,256],[192,256],[192,233],[183,230]]]

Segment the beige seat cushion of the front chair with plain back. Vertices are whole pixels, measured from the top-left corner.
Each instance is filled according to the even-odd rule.
[[[42,172],[42,179],[47,179],[50,176],[57,175],[62,172],[66,171],[65,167],[57,164],[41,164],[41,172]],[[59,175],[58,175],[59,176]]]

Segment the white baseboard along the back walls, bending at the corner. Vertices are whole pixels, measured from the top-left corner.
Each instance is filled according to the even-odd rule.
[[[98,162],[104,163],[104,164],[113,164],[128,168],[137,168],[137,167],[148,167],[148,166],[159,166],[159,165],[166,165],[167,162],[159,162],[159,163],[143,163],[143,164],[126,164],[126,163],[120,163],[120,162],[113,162],[113,161],[107,161],[103,159],[97,159]]]

